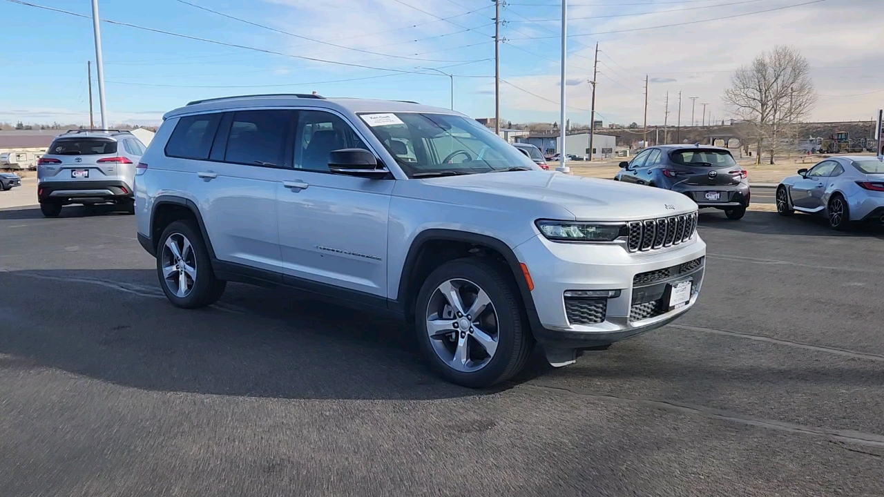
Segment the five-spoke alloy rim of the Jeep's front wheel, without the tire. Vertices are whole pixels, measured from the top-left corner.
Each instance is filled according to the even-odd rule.
[[[497,310],[485,291],[467,279],[436,287],[426,310],[427,333],[436,355],[455,371],[484,368],[497,351]]]

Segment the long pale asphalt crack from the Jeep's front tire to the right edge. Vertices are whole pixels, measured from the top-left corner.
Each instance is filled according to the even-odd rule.
[[[759,419],[757,417],[745,416],[743,414],[730,412],[722,409],[713,409],[705,406],[698,406],[679,401],[666,401],[656,399],[643,399],[639,397],[626,397],[612,394],[598,394],[592,392],[579,392],[561,386],[549,386],[538,383],[524,383],[524,387],[537,389],[545,392],[568,393],[588,397],[598,401],[608,401],[621,404],[641,405],[656,409],[665,409],[683,414],[692,414],[711,419],[720,419],[739,424],[748,424],[759,428],[767,428],[780,432],[803,433],[819,437],[827,437],[831,440],[842,442],[850,442],[852,444],[862,445],[865,447],[884,447],[884,435],[874,433],[855,432],[853,430],[833,430],[818,426],[806,426],[804,424],[788,423],[785,421],[775,421],[770,419]]]

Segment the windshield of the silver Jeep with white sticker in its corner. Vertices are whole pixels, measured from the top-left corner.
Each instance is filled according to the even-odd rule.
[[[408,177],[476,173],[537,165],[473,119],[447,114],[360,114]]]

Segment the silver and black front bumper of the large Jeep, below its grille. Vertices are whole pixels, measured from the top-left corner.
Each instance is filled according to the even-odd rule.
[[[697,233],[680,245],[639,253],[614,244],[558,243],[542,235],[516,251],[535,285],[532,331],[548,355],[552,349],[604,347],[667,325],[697,302],[705,272],[706,246]],[[689,278],[690,301],[667,310],[667,285]],[[620,294],[591,312],[578,313],[571,307],[573,301],[566,302],[568,290],[619,290]]]

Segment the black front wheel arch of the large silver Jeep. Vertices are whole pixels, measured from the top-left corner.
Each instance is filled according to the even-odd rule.
[[[466,249],[465,249],[466,248]],[[438,254],[441,250],[443,253]],[[446,250],[451,250],[446,252]],[[408,319],[414,316],[417,291],[430,272],[438,267],[438,262],[447,262],[471,254],[500,257],[507,266],[516,287],[522,306],[528,311],[532,327],[539,323],[534,299],[528,287],[518,257],[507,243],[492,236],[448,229],[429,229],[415,236],[408,248],[405,264],[402,266],[396,300],[390,302],[393,310],[400,311]],[[434,265],[435,264],[435,265]]]

